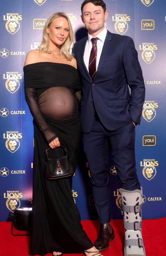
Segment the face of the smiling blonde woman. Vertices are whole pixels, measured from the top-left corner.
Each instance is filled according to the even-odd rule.
[[[55,18],[50,27],[47,28],[49,39],[55,45],[62,45],[69,35],[69,24],[66,18]]]

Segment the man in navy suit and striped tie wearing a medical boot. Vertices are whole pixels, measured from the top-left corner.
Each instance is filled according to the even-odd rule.
[[[120,183],[125,255],[145,255],[141,235],[142,188],[136,174],[135,125],[140,124],[145,85],[133,39],[110,33],[102,0],[85,0],[81,19],[88,36],[74,45],[82,80],[83,144],[100,223],[95,247],[114,239],[110,225],[109,144]],[[129,88],[131,94],[129,93]]]

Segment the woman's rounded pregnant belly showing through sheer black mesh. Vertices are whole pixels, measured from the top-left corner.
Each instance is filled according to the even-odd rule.
[[[38,98],[40,111],[54,120],[72,118],[76,101],[67,87],[52,87],[43,92]]]

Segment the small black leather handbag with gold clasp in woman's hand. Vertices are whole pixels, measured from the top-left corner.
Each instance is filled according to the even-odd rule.
[[[60,158],[49,158],[48,151],[51,148],[45,151],[45,177],[47,179],[63,178],[74,174],[73,165],[66,148],[62,145],[60,147],[65,151],[65,156]],[[56,148],[53,150],[56,150]]]

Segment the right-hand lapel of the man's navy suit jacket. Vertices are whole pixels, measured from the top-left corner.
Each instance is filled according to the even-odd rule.
[[[108,55],[108,52],[109,52],[109,49],[110,49],[111,43],[112,43],[111,40],[112,40],[112,34],[109,31],[107,31],[105,41],[104,41],[104,45],[103,45],[103,49],[102,49],[101,56],[100,56],[98,69],[97,69],[96,76],[95,76],[94,80],[97,78],[97,76],[98,76],[98,74],[99,74],[99,72],[100,72],[100,70],[103,66],[104,60],[105,60],[106,56]]]

